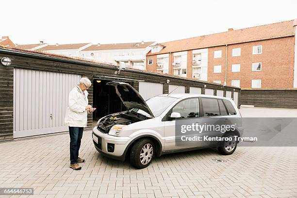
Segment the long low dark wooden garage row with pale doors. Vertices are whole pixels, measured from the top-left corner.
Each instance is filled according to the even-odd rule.
[[[196,93],[233,98],[240,104],[240,89],[160,73],[125,69],[57,55],[0,48],[0,141],[66,132],[64,116],[70,90],[82,77],[93,80],[89,102],[97,107],[93,119],[125,110],[110,81],[130,83],[144,99],[164,93]],[[5,59],[5,60],[9,60]]]

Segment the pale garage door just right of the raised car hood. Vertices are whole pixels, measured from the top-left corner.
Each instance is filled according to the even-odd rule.
[[[163,94],[163,84],[154,82],[139,82],[139,94],[145,100],[153,96]]]

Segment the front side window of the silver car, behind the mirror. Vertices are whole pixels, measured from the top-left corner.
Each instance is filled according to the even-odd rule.
[[[172,108],[181,118],[199,117],[199,99],[184,99]]]

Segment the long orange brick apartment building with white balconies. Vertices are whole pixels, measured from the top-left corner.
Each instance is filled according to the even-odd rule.
[[[243,89],[297,88],[296,26],[297,19],[156,44],[147,70]]]

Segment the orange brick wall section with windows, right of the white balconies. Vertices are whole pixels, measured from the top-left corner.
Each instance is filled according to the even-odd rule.
[[[227,85],[240,80],[243,89],[251,89],[251,80],[261,79],[261,88],[293,88],[294,41],[285,37],[228,46]],[[262,45],[262,54],[252,54],[253,46]],[[232,49],[241,48],[241,55],[232,57]],[[214,59],[214,50],[222,49],[222,58]],[[226,46],[208,49],[208,81],[225,81]],[[252,63],[262,62],[261,71],[252,71]],[[240,72],[231,72],[232,64],[240,64]],[[214,73],[214,65],[222,65],[222,73]]]

